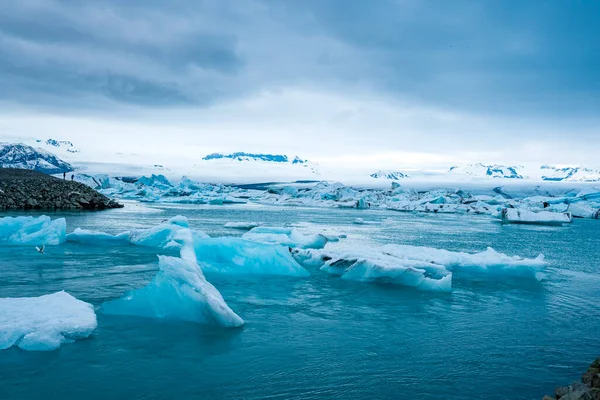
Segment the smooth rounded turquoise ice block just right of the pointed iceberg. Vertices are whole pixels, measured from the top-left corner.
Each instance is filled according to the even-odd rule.
[[[205,272],[308,276],[288,248],[245,239],[222,237],[195,240],[198,262]]]

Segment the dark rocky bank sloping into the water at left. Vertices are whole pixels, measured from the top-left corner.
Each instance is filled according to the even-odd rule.
[[[104,210],[122,204],[94,189],[36,171],[0,168],[0,210]]]

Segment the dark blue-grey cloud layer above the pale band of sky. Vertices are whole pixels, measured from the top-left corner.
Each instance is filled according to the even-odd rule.
[[[23,0],[0,99],[213,104],[286,87],[490,114],[600,108],[599,2]]]

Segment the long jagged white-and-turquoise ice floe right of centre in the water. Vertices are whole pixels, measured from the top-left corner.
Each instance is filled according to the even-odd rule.
[[[485,279],[543,279],[547,263],[509,257],[488,248],[481,253],[452,252],[429,247],[385,245],[380,248],[296,249],[293,255],[307,267],[319,267],[342,279],[396,284],[425,291],[452,290],[453,276]]]

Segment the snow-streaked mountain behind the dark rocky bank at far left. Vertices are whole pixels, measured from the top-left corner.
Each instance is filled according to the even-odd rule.
[[[0,143],[0,167],[31,169],[45,174],[61,174],[74,169],[54,154],[23,143]]]

